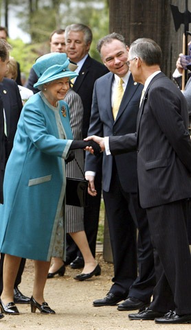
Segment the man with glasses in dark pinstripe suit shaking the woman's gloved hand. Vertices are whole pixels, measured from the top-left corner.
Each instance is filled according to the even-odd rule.
[[[191,322],[191,259],[186,233],[191,197],[191,141],[186,99],[160,71],[161,49],[139,38],[131,45],[128,64],[144,84],[137,132],[123,137],[93,138],[107,154],[138,150],[139,200],[146,209],[154,248],[157,284],[153,301],[131,320],[161,324]]]

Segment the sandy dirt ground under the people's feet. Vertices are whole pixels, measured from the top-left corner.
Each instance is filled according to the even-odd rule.
[[[116,306],[93,307],[95,299],[103,298],[111,287],[113,264],[102,259],[102,253],[96,254],[102,268],[101,276],[79,282],[74,276],[79,270],[67,266],[65,276],[48,279],[45,287],[45,299],[56,311],[55,315],[41,315],[30,311],[30,305],[17,305],[19,316],[5,315],[0,321],[0,329],[25,330],[185,330],[190,325],[156,325],[154,321],[130,321],[127,311],[117,311]],[[33,262],[27,260],[20,290],[31,296],[34,276]]]

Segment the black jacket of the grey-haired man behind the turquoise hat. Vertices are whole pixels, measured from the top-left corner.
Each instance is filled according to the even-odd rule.
[[[108,73],[108,69],[106,69],[104,64],[93,60],[93,58],[88,56],[75,80],[73,89],[78,95],[80,95],[84,107],[82,124],[83,138],[87,137],[87,131],[89,129],[94,82],[106,73]]]

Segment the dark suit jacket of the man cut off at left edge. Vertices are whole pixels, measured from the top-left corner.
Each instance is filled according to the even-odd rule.
[[[5,138],[5,152],[7,160],[12,150],[14,134],[16,132],[17,122],[19,120],[23,104],[19,93],[19,88],[16,82],[12,79],[4,78],[3,82],[0,82],[0,94],[3,98],[7,126],[7,138]]]

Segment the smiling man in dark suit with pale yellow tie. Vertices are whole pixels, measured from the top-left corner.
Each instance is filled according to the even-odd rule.
[[[111,72],[95,82],[88,134],[112,136],[135,132],[143,86],[134,83],[128,71],[128,47],[124,37],[116,33],[104,36],[99,40],[97,49]],[[114,118],[112,108],[120,78],[124,95]],[[85,169],[91,185],[89,193],[94,196],[96,184],[91,172],[96,173],[97,163],[89,153]],[[113,252],[114,284],[106,297],[95,300],[93,305],[116,305],[126,299],[118,310],[148,306],[155,285],[155,272],[146,212],[137,203],[137,152],[122,156],[104,154],[102,188]],[[139,229],[138,277],[136,227]]]

